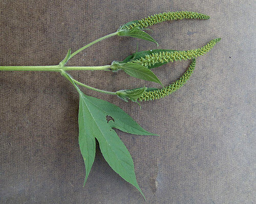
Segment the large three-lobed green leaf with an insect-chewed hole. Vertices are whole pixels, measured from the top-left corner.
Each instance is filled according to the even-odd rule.
[[[95,156],[95,138],[106,162],[143,195],[135,176],[132,157],[113,127],[135,135],[155,135],[145,131],[122,109],[79,89],[79,146],[86,165],[86,180]],[[107,120],[107,116],[112,119]],[[85,180],[85,181],[86,181]],[[144,195],[143,195],[144,197]],[[145,197],[144,197],[145,198]]]

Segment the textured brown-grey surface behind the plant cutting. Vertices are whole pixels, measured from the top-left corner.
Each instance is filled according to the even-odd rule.
[[[129,113],[160,137],[117,131],[135,163],[147,203],[255,203],[255,3],[247,1],[0,0],[0,65],[55,65],[122,23],[165,11],[196,11],[209,20],[163,22],[152,29],[160,48],[191,49],[222,37],[199,57],[188,83],[165,99],[124,103],[84,90]],[[112,37],[69,65],[105,65],[156,45]],[[189,62],[154,69],[167,84]],[[144,85],[122,72],[70,72],[114,91]],[[154,85],[146,83],[147,86]],[[144,203],[101,156],[86,187],[78,147],[78,95],[58,73],[0,72],[1,203]]]

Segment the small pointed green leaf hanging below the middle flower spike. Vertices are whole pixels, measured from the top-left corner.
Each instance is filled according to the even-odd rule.
[[[163,86],[160,80],[155,75],[155,73],[142,65],[132,63],[132,62],[126,62],[126,63],[113,62],[112,66],[114,70],[122,69],[125,73],[129,74],[131,77],[135,77],[141,80],[156,82],[161,86]]]

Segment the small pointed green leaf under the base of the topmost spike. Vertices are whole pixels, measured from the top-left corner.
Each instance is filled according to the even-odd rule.
[[[146,32],[142,31],[141,29],[139,29],[137,27],[134,27],[132,30],[127,30],[127,29],[120,30],[117,35],[140,38],[143,40],[155,42],[158,46],[158,43],[156,42],[156,40],[154,40],[154,38],[152,38],[149,34],[147,34]]]

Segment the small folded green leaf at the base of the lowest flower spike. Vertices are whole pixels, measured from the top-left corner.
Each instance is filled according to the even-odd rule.
[[[132,100],[134,102],[137,101],[137,99],[142,96],[142,94],[145,92],[147,88],[139,88],[136,90],[119,90],[116,92],[117,96],[122,98],[124,101]]]

